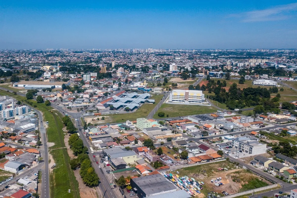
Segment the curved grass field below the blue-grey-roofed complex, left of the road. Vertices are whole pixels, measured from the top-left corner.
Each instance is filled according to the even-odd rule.
[[[149,115],[151,110],[154,109],[154,107],[160,102],[160,100],[163,98],[164,95],[154,95],[151,97],[151,99],[155,99],[154,104],[143,104],[140,106],[138,110],[136,110],[133,113],[121,113],[121,114],[115,114],[115,115],[107,115],[113,118],[114,123],[118,122],[124,122],[127,120],[133,121],[137,118],[146,118],[146,116]]]

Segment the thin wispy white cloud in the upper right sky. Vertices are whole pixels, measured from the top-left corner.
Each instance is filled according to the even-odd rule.
[[[250,12],[244,12],[241,15],[236,15],[242,18],[242,22],[260,22],[260,21],[274,21],[274,20],[284,20],[290,18],[290,13],[297,10],[297,3],[285,4],[281,6],[276,6],[269,9],[255,10]],[[235,15],[230,15],[230,17],[235,17]]]

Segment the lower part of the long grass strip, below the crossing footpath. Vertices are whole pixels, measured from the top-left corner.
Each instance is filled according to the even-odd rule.
[[[70,170],[69,174],[69,170],[67,168],[69,167],[69,164],[66,164],[64,153],[67,153],[66,148],[55,149],[50,152],[57,164],[57,166],[53,169],[53,172],[50,174],[50,197],[80,197],[78,182],[76,181],[72,170]],[[68,154],[66,157],[67,161],[70,161]],[[70,189],[70,193],[68,193],[68,189]]]

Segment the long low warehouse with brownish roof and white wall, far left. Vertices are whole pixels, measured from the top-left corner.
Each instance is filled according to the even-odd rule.
[[[43,88],[62,88],[62,85],[70,85],[70,82],[45,82],[45,81],[20,81],[14,83],[14,87],[24,87],[25,89],[43,89]]]

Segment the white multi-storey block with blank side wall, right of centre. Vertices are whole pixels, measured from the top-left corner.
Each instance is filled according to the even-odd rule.
[[[238,151],[241,150],[244,152],[245,155],[239,155],[239,157],[248,157],[266,153],[266,144],[259,143],[257,140],[245,136],[233,138],[231,145],[237,148]]]

